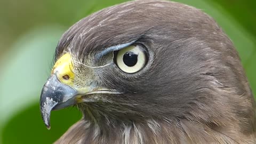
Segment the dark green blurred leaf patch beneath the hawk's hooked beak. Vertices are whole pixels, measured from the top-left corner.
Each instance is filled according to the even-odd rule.
[[[82,115],[75,107],[52,111],[51,130],[47,130],[41,118],[38,103],[29,105],[4,126],[3,143],[53,143],[81,117]]]

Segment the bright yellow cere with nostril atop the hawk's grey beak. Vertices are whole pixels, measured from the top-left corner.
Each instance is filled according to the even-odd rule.
[[[60,59],[57,60],[55,65],[52,68],[52,74],[56,74],[59,81],[63,84],[67,84],[69,86],[73,86],[73,79],[75,74],[73,71],[73,65],[71,62],[71,55],[66,53],[62,55]]]

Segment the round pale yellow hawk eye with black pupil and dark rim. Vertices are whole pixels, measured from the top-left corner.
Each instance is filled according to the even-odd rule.
[[[136,73],[147,63],[146,51],[140,45],[131,45],[114,53],[116,65],[125,73]]]

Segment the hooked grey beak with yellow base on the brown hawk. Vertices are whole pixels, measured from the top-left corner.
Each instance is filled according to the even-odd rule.
[[[51,110],[58,110],[80,103],[82,102],[82,95],[95,89],[95,86],[90,84],[85,87],[75,86],[73,70],[71,55],[69,53],[62,55],[53,66],[51,77],[47,79],[43,86],[40,97],[40,110],[47,129],[50,129]],[[89,83],[92,81],[92,79],[88,79]]]

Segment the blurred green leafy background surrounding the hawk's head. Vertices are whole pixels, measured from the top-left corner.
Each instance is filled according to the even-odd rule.
[[[60,36],[73,23],[123,0],[0,0],[0,143],[52,143],[82,117],[53,111],[48,131],[39,94]],[[210,14],[234,42],[256,94],[256,1],[177,0]]]

